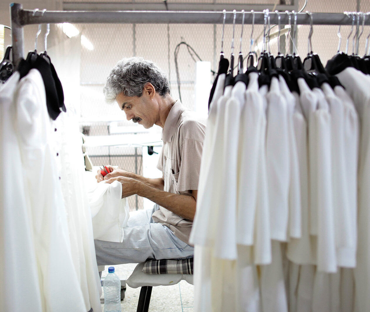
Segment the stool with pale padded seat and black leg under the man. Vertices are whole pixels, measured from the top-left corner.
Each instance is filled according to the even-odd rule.
[[[190,265],[188,265],[188,269],[190,272],[193,271],[192,268],[192,258],[188,259],[189,262],[191,263],[191,268]],[[135,269],[134,272],[129,276],[128,279],[126,279],[126,284],[130,286],[131,288],[138,288],[141,287],[140,290],[140,295],[139,295],[139,301],[138,301],[138,306],[136,312],[148,312],[149,309],[149,303],[150,303],[150,297],[152,294],[152,287],[153,286],[168,286],[168,285],[175,285],[182,279],[184,279],[186,282],[189,284],[193,284],[193,275],[192,274],[147,274],[144,273],[142,270],[144,268],[144,265],[148,265],[150,262],[150,266],[152,268],[156,267],[158,265],[159,267],[159,261],[161,260],[149,260],[147,262],[141,262],[139,263]],[[162,260],[163,261],[163,260]],[[177,272],[183,272],[183,261],[186,260],[168,260],[171,261],[171,268],[169,268],[166,272],[168,271],[176,271],[176,265],[174,265],[174,261],[177,261],[177,267],[178,270]],[[179,268],[181,267],[181,268]],[[158,269],[158,272],[164,272],[166,270],[165,266],[162,265],[161,269]],[[155,272],[155,270],[154,270]]]

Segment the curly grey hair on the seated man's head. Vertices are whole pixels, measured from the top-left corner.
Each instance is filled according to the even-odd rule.
[[[126,96],[142,96],[146,83],[150,82],[159,95],[169,94],[165,73],[153,62],[142,57],[120,60],[111,70],[103,88],[105,101],[112,103],[123,92]]]

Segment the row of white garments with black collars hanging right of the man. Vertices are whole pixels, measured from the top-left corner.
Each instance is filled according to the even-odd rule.
[[[348,40],[326,68],[312,44],[303,62],[264,44],[244,71],[240,47],[235,77],[221,52],[190,237],[195,311],[370,311],[370,57]]]

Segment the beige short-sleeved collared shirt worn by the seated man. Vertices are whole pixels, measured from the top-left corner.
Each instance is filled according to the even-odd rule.
[[[163,172],[164,191],[191,196],[191,190],[198,190],[205,129],[204,120],[176,101],[164,124],[163,148],[157,165]],[[189,242],[192,221],[164,207],[159,207],[152,218],[169,227],[185,243]]]

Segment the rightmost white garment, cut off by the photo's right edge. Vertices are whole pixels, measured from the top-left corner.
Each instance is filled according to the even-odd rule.
[[[360,118],[355,311],[367,311],[370,307],[370,78],[352,67],[344,69],[337,77],[351,96]]]

